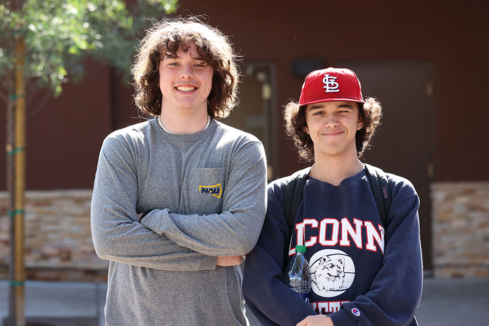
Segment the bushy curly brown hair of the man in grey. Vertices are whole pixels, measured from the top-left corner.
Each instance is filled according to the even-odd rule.
[[[153,23],[138,46],[131,68],[136,106],[152,116],[161,113],[159,65],[164,56],[175,55],[179,48],[187,52],[194,42],[205,64],[214,68],[212,90],[207,98],[207,113],[225,118],[237,103],[240,73],[238,56],[222,32],[198,17],[167,19]]]

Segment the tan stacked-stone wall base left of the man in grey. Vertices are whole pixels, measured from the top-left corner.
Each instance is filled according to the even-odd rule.
[[[27,191],[25,267],[29,280],[103,281],[108,261],[95,254],[91,190]],[[10,264],[8,194],[0,192],[0,279]]]

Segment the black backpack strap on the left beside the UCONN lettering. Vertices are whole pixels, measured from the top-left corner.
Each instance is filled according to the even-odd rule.
[[[292,179],[285,186],[284,215],[287,220],[287,225],[289,226],[289,238],[285,239],[284,266],[282,270],[285,270],[289,260],[289,245],[290,239],[292,239],[292,232],[294,231],[295,216],[297,215],[297,210],[302,201],[304,185],[306,184],[306,179],[310,170],[311,167],[292,174]]]

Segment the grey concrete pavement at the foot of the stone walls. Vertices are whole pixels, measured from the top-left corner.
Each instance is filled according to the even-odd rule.
[[[103,326],[106,291],[105,283],[27,281],[26,316],[38,325]],[[0,281],[0,325],[8,293],[8,282]],[[425,279],[416,318],[420,326],[489,325],[489,279]]]

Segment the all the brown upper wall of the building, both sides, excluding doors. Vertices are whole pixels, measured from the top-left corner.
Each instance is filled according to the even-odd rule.
[[[304,76],[292,62],[316,58],[323,66],[345,61],[421,60],[434,67],[433,139],[436,181],[489,180],[489,74],[487,1],[180,0],[178,14],[205,14],[248,61],[274,65],[273,162],[277,176],[297,169],[283,133],[282,105],[297,99]],[[130,64],[128,63],[128,69]],[[138,122],[127,82],[87,60],[87,75],[69,83],[28,123],[27,189],[91,188],[103,138]],[[409,89],[406,89],[409,92]],[[43,97],[40,91],[29,109]],[[0,103],[0,108],[4,104]],[[28,109],[28,110],[29,110]],[[420,117],[423,119],[423,117]],[[0,124],[0,141],[5,126]],[[4,171],[5,153],[0,152]],[[5,189],[0,174],[0,189]]]

